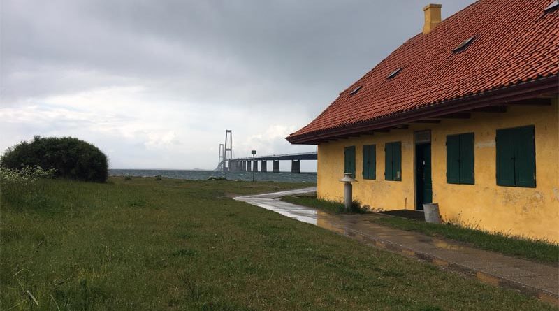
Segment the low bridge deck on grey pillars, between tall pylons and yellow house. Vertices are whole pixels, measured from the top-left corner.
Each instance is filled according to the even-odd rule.
[[[272,155],[258,156],[258,157],[224,159],[223,161],[219,162],[216,170],[258,172],[259,171],[258,162],[260,161],[260,171],[267,172],[268,161],[272,161],[272,172],[279,173],[279,161],[291,161],[291,173],[300,173],[300,161],[317,160],[317,159],[318,159],[317,152],[272,154]]]

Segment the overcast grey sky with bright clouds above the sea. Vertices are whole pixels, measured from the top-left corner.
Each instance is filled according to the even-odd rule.
[[[472,2],[437,1],[443,18]],[[3,0],[0,151],[75,136],[112,168],[215,168],[225,129],[235,156],[315,150],[284,137],[418,34],[427,3]]]

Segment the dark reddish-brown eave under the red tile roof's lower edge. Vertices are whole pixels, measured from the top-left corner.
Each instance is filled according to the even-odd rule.
[[[537,80],[492,89],[479,94],[463,96],[458,99],[440,101],[414,110],[394,113],[372,120],[344,124],[342,126],[302,133],[300,135],[292,134],[286,139],[289,143],[296,145],[317,145],[328,140],[358,136],[359,133],[389,129],[393,126],[399,126],[418,120],[425,120],[488,106],[502,106],[526,99],[535,99],[541,96],[558,93],[559,75],[552,75],[546,78],[539,78]]]

